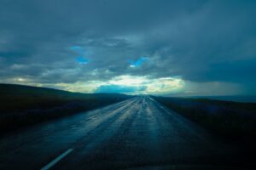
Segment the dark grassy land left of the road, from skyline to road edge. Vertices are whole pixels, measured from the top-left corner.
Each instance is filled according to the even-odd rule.
[[[124,94],[79,94],[52,88],[0,84],[0,133],[129,98],[131,96]]]

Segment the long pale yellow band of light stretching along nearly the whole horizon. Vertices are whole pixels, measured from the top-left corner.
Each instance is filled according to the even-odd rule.
[[[15,77],[4,80],[6,83],[22,84],[35,87],[56,88],[69,92],[84,94],[118,93],[118,94],[153,94],[174,96],[206,96],[206,95],[234,95],[243,94],[243,89],[227,82],[195,83],[184,81],[178,77],[141,77],[122,75],[110,80],[89,80],[78,82],[35,82],[29,77]],[[226,87],[226,88],[224,88]]]

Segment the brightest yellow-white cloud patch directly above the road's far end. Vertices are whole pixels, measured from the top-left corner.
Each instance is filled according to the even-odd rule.
[[[88,81],[73,84],[59,84],[62,88],[73,92],[97,93],[102,92],[99,89],[104,88],[105,91],[103,93],[108,93],[109,87],[109,92],[120,94],[170,94],[181,91],[183,85],[184,81],[180,78],[149,78],[129,75],[113,77],[106,82]],[[113,89],[115,87],[116,91]],[[128,88],[131,90],[127,91]]]

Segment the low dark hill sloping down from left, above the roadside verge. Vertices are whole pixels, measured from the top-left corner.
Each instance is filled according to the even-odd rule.
[[[0,84],[0,114],[26,111],[30,109],[49,109],[70,102],[90,102],[96,100],[128,99],[125,94],[81,94],[53,88]],[[106,102],[108,102],[106,101]]]

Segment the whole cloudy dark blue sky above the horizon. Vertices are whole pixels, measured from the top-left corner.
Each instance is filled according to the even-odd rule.
[[[0,82],[256,94],[256,1],[1,0]]]

